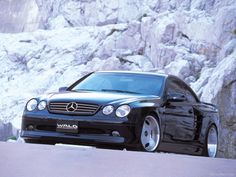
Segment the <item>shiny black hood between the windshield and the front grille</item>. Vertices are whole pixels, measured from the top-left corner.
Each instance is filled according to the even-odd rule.
[[[128,104],[138,100],[159,98],[153,95],[140,95],[116,92],[60,92],[51,93],[47,100],[51,101],[75,101],[94,104]]]

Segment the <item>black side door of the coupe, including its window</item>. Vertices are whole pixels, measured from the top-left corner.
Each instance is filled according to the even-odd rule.
[[[192,141],[195,116],[192,103],[187,100],[185,83],[177,78],[168,78],[164,105],[164,141]],[[167,100],[170,95],[183,95],[183,100]]]

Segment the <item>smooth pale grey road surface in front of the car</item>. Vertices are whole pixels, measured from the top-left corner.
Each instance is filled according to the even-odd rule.
[[[236,177],[236,160],[0,143],[0,177]]]

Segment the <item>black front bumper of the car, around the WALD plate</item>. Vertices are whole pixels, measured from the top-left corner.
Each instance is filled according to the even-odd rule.
[[[78,133],[57,132],[58,120],[64,118],[42,118],[41,116],[23,116],[21,137],[40,142],[68,143],[82,145],[114,144],[120,146],[133,146],[136,141],[135,124],[126,121],[112,122],[111,120],[96,121],[90,119],[78,119],[70,117],[70,120],[78,121]],[[86,120],[86,121],[85,121]],[[29,129],[29,125],[34,128]],[[120,136],[113,136],[112,132],[119,132]]]

